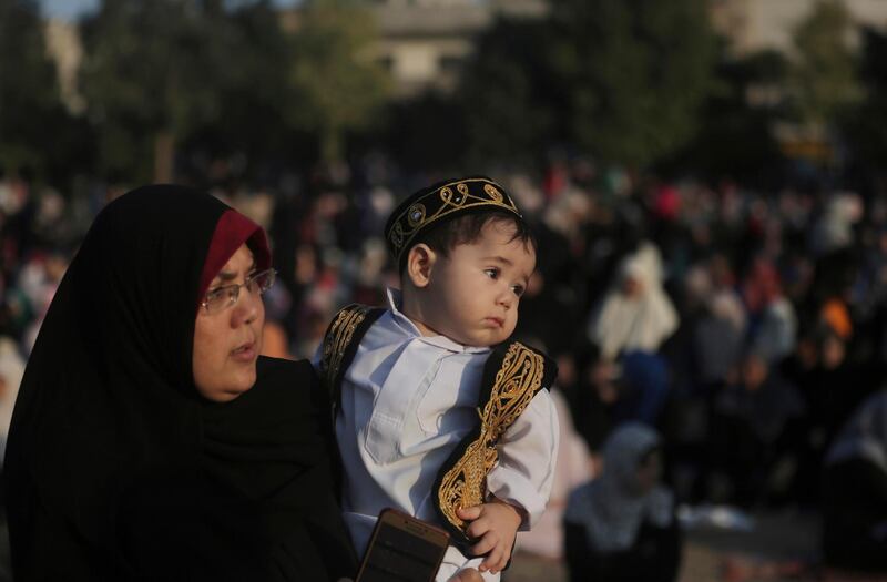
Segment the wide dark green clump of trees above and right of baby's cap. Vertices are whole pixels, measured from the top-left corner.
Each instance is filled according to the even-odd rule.
[[[552,0],[547,20],[481,38],[461,86],[471,142],[648,165],[694,135],[714,55],[704,0]]]

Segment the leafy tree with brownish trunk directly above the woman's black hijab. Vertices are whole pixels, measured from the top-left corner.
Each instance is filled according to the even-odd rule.
[[[104,0],[82,24],[81,89],[101,135],[102,170],[165,182],[175,145],[222,116],[238,42],[222,0]]]

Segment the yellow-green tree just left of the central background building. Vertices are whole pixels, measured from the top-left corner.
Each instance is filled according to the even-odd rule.
[[[315,0],[299,14],[288,113],[318,135],[325,162],[343,160],[346,132],[370,127],[385,105],[389,80],[369,52],[375,38],[371,14],[347,0]]]

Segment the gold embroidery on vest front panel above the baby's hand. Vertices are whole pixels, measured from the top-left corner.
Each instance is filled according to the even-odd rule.
[[[460,507],[470,508],[485,501],[487,473],[499,459],[499,438],[523,412],[539,391],[544,372],[544,358],[526,346],[509,346],[502,366],[496,374],[490,399],[480,413],[480,436],[447,471],[438,489],[440,510],[456,528],[466,523],[456,514]]]

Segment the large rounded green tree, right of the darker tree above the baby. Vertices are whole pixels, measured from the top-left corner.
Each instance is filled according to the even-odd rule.
[[[553,0],[551,24],[577,145],[643,166],[693,136],[715,55],[704,0]]]

